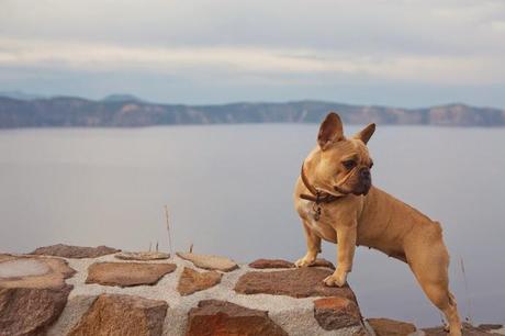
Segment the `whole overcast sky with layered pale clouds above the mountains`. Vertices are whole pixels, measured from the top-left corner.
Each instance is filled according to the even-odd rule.
[[[505,108],[503,0],[0,0],[0,91]]]

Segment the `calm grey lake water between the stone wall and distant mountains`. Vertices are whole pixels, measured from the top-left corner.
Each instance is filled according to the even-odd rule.
[[[168,204],[176,249],[295,260],[305,243],[292,191],[316,133],[298,124],[1,131],[0,250],[168,249]],[[379,126],[369,147],[374,184],[442,223],[462,317],[504,323],[505,130]],[[335,255],[323,245],[323,257]],[[349,282],[368,317],[440,322],[408,268],[378,251],[358,248]]]

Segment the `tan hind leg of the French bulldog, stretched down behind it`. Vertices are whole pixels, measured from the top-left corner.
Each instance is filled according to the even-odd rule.
[[[449,291],[449,255],[444,243],[407,253],[408,265],[428,299],[446,316],[451,336],[461,335],[461,321],[456,299]]]

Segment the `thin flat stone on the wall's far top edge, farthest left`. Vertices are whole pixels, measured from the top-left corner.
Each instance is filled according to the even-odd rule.
[[[119,253],[121,249],[115,249],[108,246],[98,246],[98,247],[83,247],[83,246],[72,246],[65,244],[57,244],[50,246],[38,247],[31,255],[43,255],[43,256],[54,256],[61,258],[97,258],[101,256],[106,256],[111,254]]]

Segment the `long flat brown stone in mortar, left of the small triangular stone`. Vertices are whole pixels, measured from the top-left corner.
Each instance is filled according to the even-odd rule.
[[[94,262],[88,268],[86,283],[119,287],[156,284],[176,268],[175,264]]]

